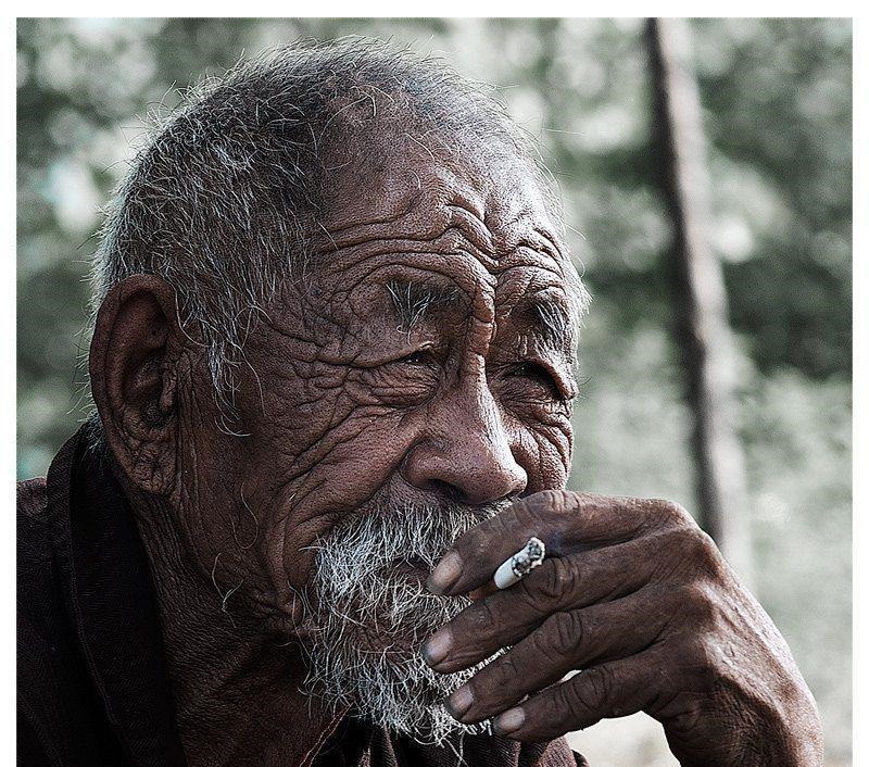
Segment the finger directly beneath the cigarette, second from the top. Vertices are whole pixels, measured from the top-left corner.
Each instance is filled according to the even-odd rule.
[[[667,559],[667,536],[546,559],[516,586],[465,608],[426,642],[438,671],[457,671],[516,644],[550,615],[627,596],[648,583]]]

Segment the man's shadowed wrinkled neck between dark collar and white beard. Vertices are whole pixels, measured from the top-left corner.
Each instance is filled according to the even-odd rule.
[[[214,583],[191,564],[171,510],[141,498],[131,505],[190,767],[307,765],[342,713],[301,692],[298,642],[281,643],[225,611]]]

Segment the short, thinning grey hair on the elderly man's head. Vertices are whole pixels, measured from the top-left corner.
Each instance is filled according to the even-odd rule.
[[[350,123],[413,130],[439,151],[498,147],[525,159],[559,221],[533,142],[479,85],[379,40],[300,41],[191,89],[154,126],[109,208],[93,315],[126,277],[164,278],[231,412],[245,335],[311,261],[327,202],[324,148]]]

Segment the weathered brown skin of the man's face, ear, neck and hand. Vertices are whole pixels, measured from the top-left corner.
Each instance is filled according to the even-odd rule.
[[[190,763],[298,755],[306,702],[299,657],[279,645],[298,636],[306,548],[389,485],[408,502],[524,499],[465,536],[432,588],[484,587],[532,533],[561,557],[428,645],[432,663],[449,645],[436,667],[452,670],[518,643],[471,682],[464,713],[454,696],[463,720],[627,657],[532,697],[511,737],[643,708],[685,765],[820,764],[784,641],[690,517],[562,491],[575,339],[547,337],[529,302],[569,313],[575,277],[526,168],[436,160],[410,140],[369,156],[382,162],[336,162],[317,265],[281,286],[245,344],[245,436],[217,428],[165,282],[127,280],[98,319],[93,394],[152,561]],[[389,291],[407,282],[444,296],[411,328]]]

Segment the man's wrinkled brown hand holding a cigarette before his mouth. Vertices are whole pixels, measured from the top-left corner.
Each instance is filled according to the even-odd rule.
[[[500,734],[539,741],[644,711],[683,766],[822,763],[817,707],[784,639],[676,504],[537,493],[465,533],[429,588],[484,588],[531,536],[543,565],[424,647],[443,672],[509,647],[450,696],[458,720],[496,717]]]

